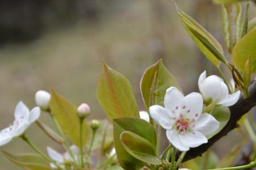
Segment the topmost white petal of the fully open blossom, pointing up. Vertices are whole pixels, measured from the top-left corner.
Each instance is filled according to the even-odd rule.
[[[170,87],[164,96],[164,107],[172,117],[177,117],[180,112],[180,102],[184,95],[176,88]]]

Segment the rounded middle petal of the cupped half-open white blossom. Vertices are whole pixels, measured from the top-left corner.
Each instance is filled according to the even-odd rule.
[[[204,99],[212,98],[217,100],[221,95],[221,79],[216,75],[210,75],[201,84],[201,93]]]

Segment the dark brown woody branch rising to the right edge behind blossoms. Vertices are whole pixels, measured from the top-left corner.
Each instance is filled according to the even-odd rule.
[[[250,111],[256,105],[256,81],[251,84],[250,88],[250,98],[245,100],[243,96],[240,96],[240,99],[237,101],[236,104],[229,107],[230,109],[230,120],[228,124],[226,124],[225,128],[223,128],[220,133],[214,135],[214,137],[210,138],[208,143],[205,143],[199,147],[191,148],[183,161],[196,158],[197,156],[202,155],[205,151],[208,150],[218,139],[225,137],[229,131],[232,131],[234,128],[237,128],[237,121],[243,116],[243,114]]]

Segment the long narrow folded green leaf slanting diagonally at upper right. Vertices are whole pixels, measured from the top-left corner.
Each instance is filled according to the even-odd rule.
[[[198,48],[214,66],[218,67],[220,61],[226,62],[220,43],[206,29],[181,10],[179,10],[179,16]]]

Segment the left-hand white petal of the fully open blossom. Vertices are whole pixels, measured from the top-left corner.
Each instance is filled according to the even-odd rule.
[[[150,108],[151,117],[164,129],[171,129],[171,126],[174,124],[174,120],[167,113],[166,109],[160,105],[152,105]]]

